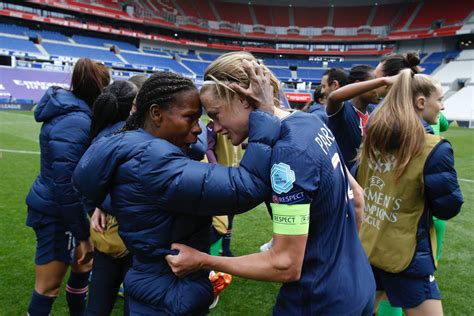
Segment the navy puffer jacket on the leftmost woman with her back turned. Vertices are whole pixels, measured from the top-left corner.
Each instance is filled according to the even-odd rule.
[[[41,170],[26,197],[31,212],[54,217],[78,240],[89,238],[89,220],[71,182],[89,145],[91,109],[72,92],[51,87],[38,103],[35,120],[40,132]]]

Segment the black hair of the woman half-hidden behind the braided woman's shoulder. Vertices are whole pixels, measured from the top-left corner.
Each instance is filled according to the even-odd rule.
[[[94,102],[90,139],[108,125],[125,121],[130,115],[138,88],[128,81],[115,81]]]

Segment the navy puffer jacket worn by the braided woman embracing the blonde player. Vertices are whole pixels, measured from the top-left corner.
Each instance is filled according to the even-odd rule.
[[[208,273],[177,278],[164,256],[172,242],[208,251],[212,215],[250,210],[269,194],[271,146],[280,121],[250,115],[249,145],[239,168],[194,161],[180,148],[146,131],[124,132],[93,144],[73,182],[102,203],[110,192],[119,234],[134,255],[125,277],[133,299],[163,314],[202,313],[213,300]]]

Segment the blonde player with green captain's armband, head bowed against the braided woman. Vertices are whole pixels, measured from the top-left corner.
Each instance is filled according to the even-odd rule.
[[[269,174],[273,245],[225,258],[173,244],[180,253],[167,257],[172,270],[184,276],[215,269],[282,282],[274,315],[371,315],[375,282],[357,237],[350,176],[331,131],[315,115],[280,109],[278,81],[251,54],[219,57],[204,78],[201,101],[216,131],[234,145],[248,133],[248,112],[258,100],[252,91],[273,96],[282,124]]]

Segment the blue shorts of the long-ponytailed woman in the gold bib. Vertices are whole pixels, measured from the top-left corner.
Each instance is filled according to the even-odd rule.
[[[394,307],[414,308],[426,300],[441,300],[433,275],[417,278],[403,273],[388,273],[373,266],[372,270],[377,291],[384,291]]]

